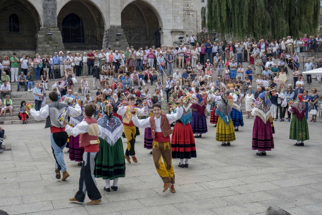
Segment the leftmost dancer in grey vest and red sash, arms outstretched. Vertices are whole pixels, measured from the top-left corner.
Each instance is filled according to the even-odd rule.
[[[81,114],[81,107],[76,104],[75,107],[68,106],[68,104],[58,102],[58,94],[56,92],[49,93],[49,99],[52,103],[42,107],[39,111],[31,109],[30,113],[37,121],[46,119],[45,128],[50,127],[50,142],[52,146],[52,153],[54,154],[56,166],[56,179],[61,178],[60,171],[62,171],[62,181],[69,177],[66,171],[66,164],[64,161],[63,151],[67,144],[68,135],[65,132],[64,122],[58,121],[60,114],[66,109],[71,117],[77,117]]]

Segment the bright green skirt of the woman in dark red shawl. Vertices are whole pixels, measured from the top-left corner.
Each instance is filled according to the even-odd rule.
[[[296,115],[293,115],[291,126],[289,127],[289,139],[297,141],[309,140],[308,121],[305,116],[302,120],[298,120]]]

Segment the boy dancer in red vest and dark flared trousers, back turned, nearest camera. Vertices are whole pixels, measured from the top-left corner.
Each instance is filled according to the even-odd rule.
[[[87,191],[88,198],[91,200],[87,202],[87,205],[96,205],[102,201],[94,178],[95,161],[99,156],[97,122],[91,117],[95,111],[94,104],[87,104],[84,110],[84,120],[81,123],[72,128],[65,122],[66,132],[74,137],[80,134],[80,147],[84,147],[79,190],[75,197],[69,200],[84,202]]]

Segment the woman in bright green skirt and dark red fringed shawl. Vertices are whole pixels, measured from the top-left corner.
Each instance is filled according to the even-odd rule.
[[[304,141],[309,140],[308,122],[305,117],[304,95],[298,94],[296,102],[291,106],[289,112],[293,113],[291,126],[289,128],[289,139],[296,140],[295,146],[304,146]]]

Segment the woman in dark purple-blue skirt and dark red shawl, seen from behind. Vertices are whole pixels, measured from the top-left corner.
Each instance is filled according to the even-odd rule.
[[[192,99],[191,101],[191,110],[192,110],[192,121],[191,127],[192,132],[195,134],[195,138],[200,138],[202,134],[207,133],[207,121],[206,116],[204,115],[204,102],[202,100],[202,94],[198,93],[197,98]],[[199,134],[199,135],[197,135]]]

